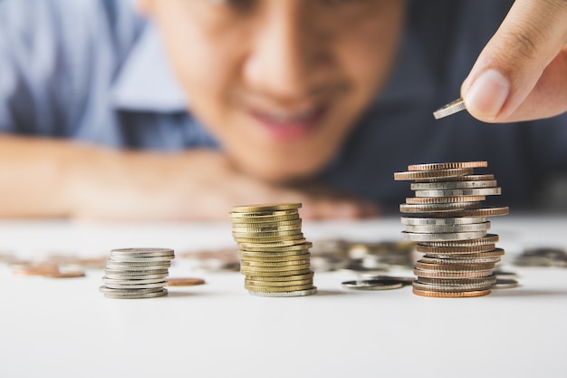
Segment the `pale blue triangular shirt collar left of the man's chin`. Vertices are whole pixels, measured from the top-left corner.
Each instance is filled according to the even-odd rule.
[[[187,111],[155,24],[148,21],[111,87],[115,107],[132,111]]]

